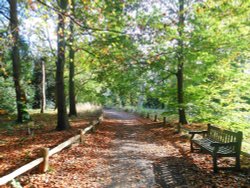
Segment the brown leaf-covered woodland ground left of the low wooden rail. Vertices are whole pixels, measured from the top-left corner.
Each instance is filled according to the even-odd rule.
[[[6,116],[7,117],[7,116]],[[32,119],[35,125],[31,126],[30,134],[28,125],[15,125],[8,118],[1,117],[0,122],[0,176],[40,157],[40,148],[57,146],[76,135],[79,128],[85,128],[93,117],[88,116],[85,120],[73,118],[72,129],[58,132],[56,127],[55,113],[34,114]]]

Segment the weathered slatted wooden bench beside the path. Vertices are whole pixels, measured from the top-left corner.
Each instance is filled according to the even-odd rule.
[[[236,133],[208,124],[207,131],[190,131],[189,134],[191,134],[191,152],[194,150],[205,150],[210,153],[213,157],[213,170],[215,173],[219,169],[233,168],[240,170],[240,153],[243,137],[241,131]],[[195,138],[196,134],[200,134],[202,138]],[[194,145],[198,146],[198,148],[195,148]],[[235,157],[235,166],[219,168],[217,165],[218,157]]]

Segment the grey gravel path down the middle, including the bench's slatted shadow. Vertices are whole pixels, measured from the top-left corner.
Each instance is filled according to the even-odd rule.
[[[176,169],[155,165],[156,160],[171,154],[152,138],[142,136],[150,131],[142,125],[152,124],[151,121],[113,110],[106,110],[104,117],[117,123],[109,160],[111,183],[107,187],[185,187],[181,175],[174,172]]]

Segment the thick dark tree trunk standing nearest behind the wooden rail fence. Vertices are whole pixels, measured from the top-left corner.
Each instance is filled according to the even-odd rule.
[[[67,0],[60,0],[61,12],[58,14],[57,31],[57,62],[56,62],[56,93],[57,93],[57,130],[69,129],[64,91],[64,64],[65,64],[65,15]]]

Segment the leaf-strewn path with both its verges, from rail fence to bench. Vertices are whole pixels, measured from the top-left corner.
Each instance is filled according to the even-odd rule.
[[[190,153],[187,136],[173,125],[109,110],[85,144],[52,156],[47,173],[33,170],[18,181],[23,187],[250,187],[247,162],[241,172],[213,174],[211,156]]]

